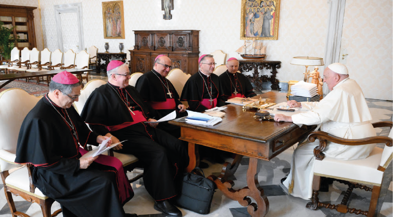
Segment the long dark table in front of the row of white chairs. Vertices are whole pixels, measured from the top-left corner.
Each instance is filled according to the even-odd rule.
[[[7,80],[7,81],[4,84],[0,85],[0,89],[15,79],[53,76],[62,71],[68,71],[72,74],[77,75],[79,80],[82,82],[82,74],[86,71],[93,71],[93,70],[92,69],[57,69],[57,70],[50,70],[50,71],[4,74],[4,75],[0,75],[0,80]]]

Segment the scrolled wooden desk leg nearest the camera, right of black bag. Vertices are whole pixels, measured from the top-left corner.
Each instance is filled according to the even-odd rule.
[[[250,157],[247,170],[247,186],[239,190],[232,189],[234,183],[231,180],[223,183],[214,175],[210,175],[208,178],[216,183],[217,188],[226,197],[238,201],[242,206],[247,206],[247,211],[252,217],[264,217],[269,211],[269,201],[264,195],[263,189],[259,186],[257,165],[258,159]],[[255,200],[256,204],[251,202],[250,197]]]

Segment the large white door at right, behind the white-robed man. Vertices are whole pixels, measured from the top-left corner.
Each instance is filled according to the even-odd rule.
[[[365,98],[392,100],[392,0],[346,0],[340,62]]]

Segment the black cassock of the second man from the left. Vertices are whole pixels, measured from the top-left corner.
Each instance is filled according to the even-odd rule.
[[[127,140],[117,151],[138,157],[144,169],[143,183],[154,200],[174,197],[174,178],[188,165],[187,144],[144,122],[129,125],[136,111],[151,118],[148,106],[133,86],[119,88],[107,83],[92,92],[81,117],[101,135],[111,133],[120,141]]]

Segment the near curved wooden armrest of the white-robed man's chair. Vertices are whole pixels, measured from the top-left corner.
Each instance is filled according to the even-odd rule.
[[[367,137],[364,139],[342,139],[340,137],[336,137],[324,131],[312,131],[310,135],[307,137],[310,142],[314,142],[316,139],[320,141],[319,146],[314,148],[314,156],[317,160],[323,160],[325,154],[322,153],[325,150],[327,141],[334,142],[337,144],[348,145],[348,146],[358,146],[372,143],[385,143],[386,146],[391,147],[393,140],[389,137],[375,136],[375,137]]]

